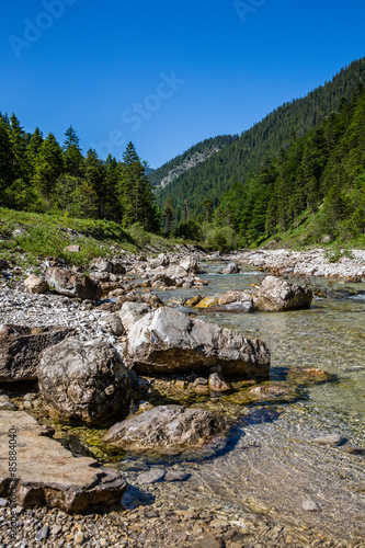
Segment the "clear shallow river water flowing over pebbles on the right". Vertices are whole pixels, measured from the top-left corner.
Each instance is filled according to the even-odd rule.
[[[244,290],[262,277],[252,270],[219,275],[221,263],[202,267],[209,272],[202,276],[209,281],[206,295]],[[311,282],[328,287],[326,279]],[[167,292],[160,296],[169,298]],[[171,300],[190,296],[192,290],[176,290]],[[364,541],[365,457],[362,450],[350,453],[352,446],[365,448],[364,296],[315,299],[303,311],[198,316],[263,340],[271,350],[273,381],[290,384],[287,372],[293,367],[318,367],[335,379],[307,386],[303,397],[290,403],[242,408],[242,420],[232,426],[226,445],[205,458],[197,456],[190,481],[174,489],[157,487],[159,496],[175,496],[187,506],[218,507],[223,516],[241,521],[242,527],[252,518],[250,512],[269,515],[274,523],[296,524],[304,532],[304,545],[307,530],[354,546]],[[346,443],[332,447],[312,442],[332,433],[342,434]],[[185,465],[187,469],[192,461]],[[308,500],[320,511],[306,512],[303,504]]]

